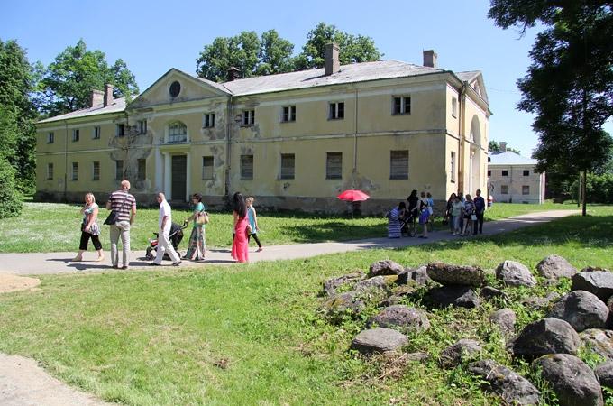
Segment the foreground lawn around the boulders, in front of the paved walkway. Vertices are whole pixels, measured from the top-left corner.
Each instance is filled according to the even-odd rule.
[[[526,363],[513,362],[489,312],[509,306],[519,327],[544,312],[521,300],[568,291],[570,283],[508,290],[508,303],[479,309],[428,309],[432,328],[406,352],[433,359],[363,358],[348,351],[363,318],[329,323],[321,282],[389,258],[491,269],[516,260],[535,269],[561,254],[574,266],[613,268],[613,208],[565,217],[507,235],[399,250],[368,250],[288,262],[207,266],[164,272],[74,273],[42,277],[41,289],[0,296],[0,351],[32,357],[64,382],[126,404],[496,404],[463,366],[443,371],[436,356],[459,338],[476,338],[484,357],[512,366],[545,389]],[[496,282],[489,275],[489,281]],[[423,291],[407,304],[424,308]],[[591,355],[582,355],[590,357]],[[593,357],[593,356],[592,356]]]

